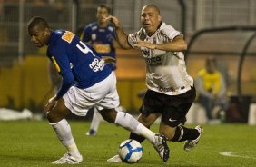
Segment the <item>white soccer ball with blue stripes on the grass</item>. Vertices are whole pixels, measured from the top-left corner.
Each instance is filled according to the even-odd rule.
[[[143,156],[143,147],[140,142],[128,139],[120,144],[118,153],[124,162],[138,162]]]

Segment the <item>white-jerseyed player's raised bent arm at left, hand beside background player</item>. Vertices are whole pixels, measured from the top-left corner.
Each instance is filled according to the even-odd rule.
[[[105,17],[104,20],[105,21],[109,20],[110,22],[113,23],[113,25],[115,27],[115,33],[116,33],[118,44],[120,44],[120,46],[123,49],[131,49],[132,47],[130,46],[130,44],[128,44],[128,41],[127,41],[128,36],[127,36],[127,34],[124,33],[123,27],[120,24],[119,20],[113,15]]]

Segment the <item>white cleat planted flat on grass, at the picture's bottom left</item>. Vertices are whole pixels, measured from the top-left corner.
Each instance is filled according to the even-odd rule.
[[[53,164],[78,164],[83,161],[81,154],[78,156],[73,156],[69,152],[65,153],[62,158],[52,162]]]

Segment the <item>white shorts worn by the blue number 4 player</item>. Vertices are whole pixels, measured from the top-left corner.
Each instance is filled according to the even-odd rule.
[[[115,74],[111,73],[100,83],[86,89],[72,86],[63,98],[65,106],[78,116],[85,116],[93,106],[98,110],[116,108],[120,102]]]

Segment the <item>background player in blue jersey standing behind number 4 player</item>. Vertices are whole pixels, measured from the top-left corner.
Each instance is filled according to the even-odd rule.
[[[110,8],[107,5],[100,5],[97,8],[97,22],[84,27],[81,34],[81,40],[87,44],[91,44],[98,55],[103,58],[106,65],[114,71],[116,69],[115,48],[118,44],[115,41],[113,26],[103,20],[104,17],[109,15]],[[90,130],[86,135],[95,135],[101,120],[101,114],[97,111],[97,108],[94,107],[93,120]]]

